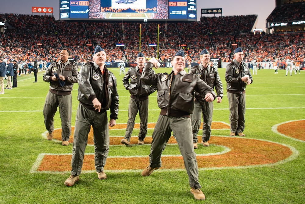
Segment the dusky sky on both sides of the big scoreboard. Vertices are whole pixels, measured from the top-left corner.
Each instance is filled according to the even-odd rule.
[[[0,6],[0,13],[31,14],[32,6],[53,7],[53,16],[55,17],[55,19],[59,18],[59,0],[2,1]],[[212,8],[222,8],[223,16],[257,14],[258,23],[256,28],[262,28],[263,30],[265,30],[265,22],[269,14],[275,8],[275,0],[197,0],[197,20],[199,20],[201,16],[201,9]]]

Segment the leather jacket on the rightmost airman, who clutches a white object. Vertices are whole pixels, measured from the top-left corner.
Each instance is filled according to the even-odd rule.
[[[227,82],[227,92],[240,94],[245,93],[247,83],[244,83],[242,81],[242,77],[245,75],[249,75],[252,84],[253,79],[251,76],[251,72],[244,62],[239,64],[238,61],[233,60],[230,64],[228,64],[225,73],[225,79]]]

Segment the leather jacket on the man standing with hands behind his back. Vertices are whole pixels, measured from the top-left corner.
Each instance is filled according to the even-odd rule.
[[[144,84],[141,82],[140,77],[140,69],[138,66],[131,67],[123,78],[123,85],[131,94],[131,98],[135,100],[146,100],[150,94],[157,90],[157,87]]]

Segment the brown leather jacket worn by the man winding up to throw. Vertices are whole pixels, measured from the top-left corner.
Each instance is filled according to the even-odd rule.
[[[174,88],[171,90],[174,71],[154,73],[153,64],[148,62],[143,68],[141,80],[144,84],[157,86],[157,102],[161,108],[161,115],[174,117],[189,117],[193,113],[195,91],[203,98],[211,93],[216,98],[214,89],[193,74],[180,71],[175,76]]]

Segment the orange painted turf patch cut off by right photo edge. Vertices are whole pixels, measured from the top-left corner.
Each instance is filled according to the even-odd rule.
[[[287,122],[279,125],[279,133],[305,141],[305,120]]]

